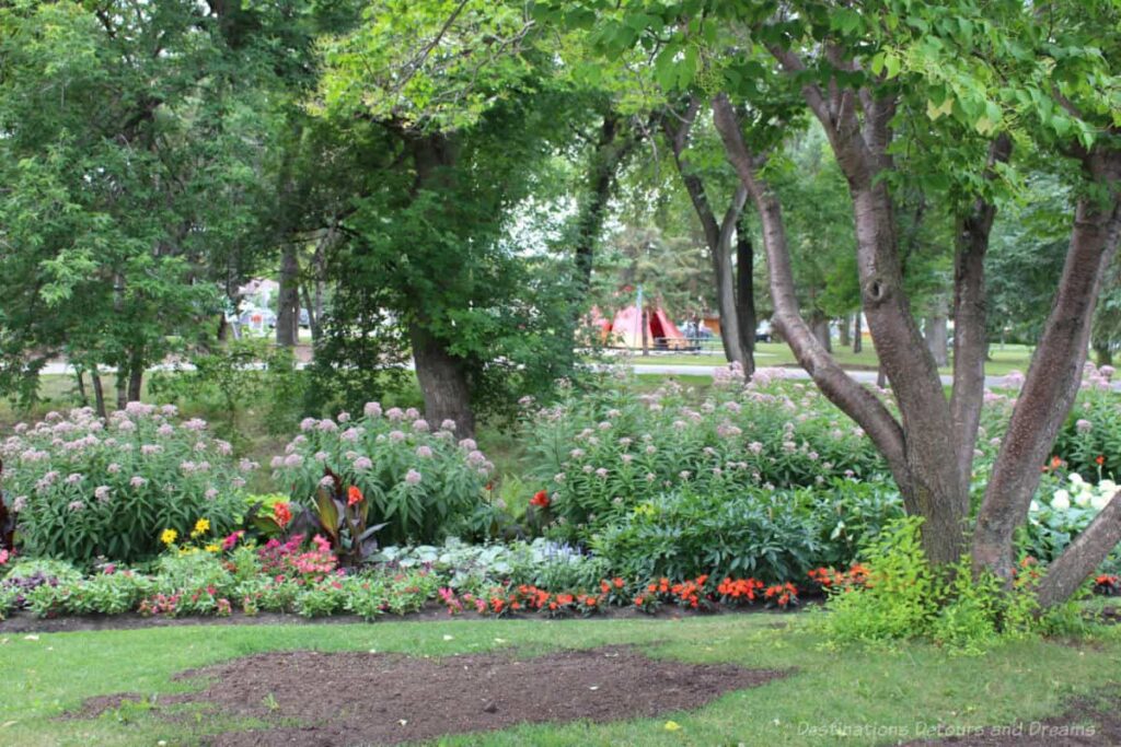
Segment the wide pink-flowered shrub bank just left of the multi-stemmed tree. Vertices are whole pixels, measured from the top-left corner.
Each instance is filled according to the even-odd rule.
[[[673,383],[639,393],[633,376],[615,377],[527,412],[522,438],[559,531],[586,536],[674,491],[732,495],[882,471],[860,429],[812,386],[779,377],[724,377],[700,404]]]

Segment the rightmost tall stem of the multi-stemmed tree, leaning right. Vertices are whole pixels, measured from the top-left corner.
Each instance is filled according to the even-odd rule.
[[[1028,505],[1039,485],[1039,468],[1078,393],[1094,304],[1105,269],[1117,253],[1121,232],[1121,200],[1117,197],[1121,183],[1121,152],[1094,150],[1085,157],[1084,167],[1090,178],[1111,195],[1111,202],[1102,204],[1100,196],[1078,200],[1058,293],[978,514],[974,568],[989,569],[1003,578],[1011,578],[1012,535],[1027,519]],[[1091,544],[1090,549],[1096,547]],[[1110,549],[1112,545],[1097,558],[1099,562]],[[1074,545],[1072,551],[1075,551]],[[1080,551],[1088,550],[1083,547],[1075,554]],[[1051,564],[1048,575],[1062,575],[1072,566],[1080,566],[1080,561],[1073,555],[1068,560],[1064,553]]]

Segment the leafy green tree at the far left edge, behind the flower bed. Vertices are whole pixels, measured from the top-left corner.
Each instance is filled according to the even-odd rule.
[[[212,262],[254,232],[269,139],[226,52],[188,2],[0,7],[6,390],[34,398],[65,352],[102,412],[114,366],[123,405],[219,311]]]

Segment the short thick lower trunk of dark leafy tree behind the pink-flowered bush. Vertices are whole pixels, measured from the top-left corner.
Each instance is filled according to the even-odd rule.
[[[445,420],[454,420],[456,435],[474,436],[475,415],[463,361],[451,355],[443,340],[417,323],[409,325],[409,340],[424,395],[425,419],[433,429],[439,428]]]

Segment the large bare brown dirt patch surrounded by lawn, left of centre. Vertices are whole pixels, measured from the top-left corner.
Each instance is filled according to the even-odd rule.
[[[206,688],[163,698],[154,708],[158,713],[165,704],[196,703],[277,723],[221,734],[207,743],[214,747],[393,745],[522,722],[654,717],[787,674],[649,659],[628,647],[442,660],[294,651],[183,672],[175,679],[205,678]],[[77,716],[89,718],[128,699],[91,699]],[[299,726],[290,726],[294,720]]]

